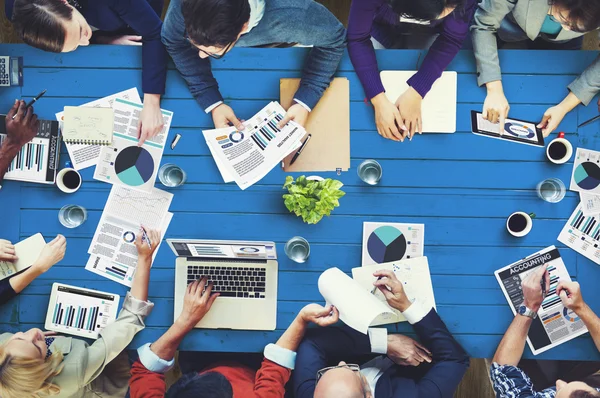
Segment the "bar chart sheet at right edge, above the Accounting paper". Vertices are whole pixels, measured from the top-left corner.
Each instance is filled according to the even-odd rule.
[[[600,219],[599,216],[584,216],[581,203],[558,235],[558,240],[600,264]]]

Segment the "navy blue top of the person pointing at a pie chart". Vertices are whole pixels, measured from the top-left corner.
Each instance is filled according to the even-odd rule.
[[[104,32],[133,29],[143,38],[142,90],[164,94],[167,79],[167,51],[160,41],[160,11],[164,0],[79,0],[87,22]],[[6,0],[6,16],[12,17],[14,0]]]

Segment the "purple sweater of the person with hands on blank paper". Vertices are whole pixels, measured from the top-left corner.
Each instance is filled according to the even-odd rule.
[[[407,82],[422,97],[460,50],[476,6],[477,0],[465,0],[463,7],[457,8],[443,20],[432,21],[432,25],[440,25],[440,35],[431,45],[421,68]],[[400,16],[386,0],[352,0],[348,19],[348,52],[368,99],[385,91],[371,43],[373,22],[395,25],[399,24],[399,20]]]

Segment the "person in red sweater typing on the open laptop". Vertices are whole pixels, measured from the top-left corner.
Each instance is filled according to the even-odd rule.
[[[164,373],[174,364],[177,347],[196,324],[210,311],[219,296],[212,293],[213,284],[206,277],[190,283],[185,293],[183,310],[175,323],[157,341],[138,349],[139,360],[131,369],[131,398],[157,398],[166,394]],[[285,384],[294,369],[296,349],[312,322],[329,326],[338,321],[334,307],[309,304],[302,308],[276,344],[265,347],[258,370],[236,362],[218,362],[200,372],[184,374],[170,389],[172,398],[244,398],[283,397]]]

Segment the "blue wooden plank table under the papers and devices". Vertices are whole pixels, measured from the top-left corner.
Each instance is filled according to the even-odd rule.
[[[235,49],[213,70],[221,92],[238,117],[248,118],[268,101],[279,98],[279,79],[298,77],[306,49]],[[23,87],[0,89],[0,111],[15,98],[30,98],[48,89],[35,110],[53,119],[65,105],[80,105],[106,95],[141,88],[139,48],[90,46],[72,54],[43,53],[22,45],[0,45],[1,55],[24,56]],[[414,70],[420,51],[378,51],[381,69]],[[566,95],[566,86],[597,52],[543,52],[524,50],[500,54],[504,88],[511,116],[539,120],[543,112]],[[459,54],[449,70],[458,72],[458,118],[455,134],[423,135],[412,142],[394,143],[379,137],[373,110],[363,102],[363,90],[344,56],[338,75],[350,80],[351,169],[339,179],[347,195],[332,217],[305,225],[283,205],[282,170],[273,170],[246,191],[223,184],[202,137],[212,120],[191,98],[173,65],[162,107],[175,112],[171,136],[182,134],[175,150],[166,149],[163,162],[177,163],[189,182],[173,190],[175,213],[170,238],[253,239],[277,242],[279,303],[275,332],[194,330],[182,349],[199,351],[260,351],[281,334],[297,311],[308,302],[321,302],[320,273],[329,267],[346,272],[359,266],[363,221],[424,223],[425,254],[429,257],[437,308],[457,339],[474,357],[491,357],[508,327],[512,313],[493,272],[541,248],[555,244],[571,275],[583,285],[585,299],[600,313],[600,267],[564,248],[556,238],[578,202],[568,192],[558,204],[545,203],[535,194],[536,184],[559,177],[568,184],[572,163],[556,166],[543,149],[505,143],[470,133],[471,109],[480,110],[485,91],[477,87],[470,52]],[[600,149],[599,124],[577,129],[579,122],[597,114],[595,102],[568,114],[559,127],[574,146]],[[171,138],[169,139],[170,142]],[[362,184],[356,167],[367,158],[383,166],[381,183]],[[68,159],[63,149],[61,163]],[[0,237],[16,242],[36,232],[47,239],[61,233],[68,239],[65,259],[32,283],[19,297],[0,308],[2,331],[42,327],[53,282],[125,293],[125,287],[84,269],[87,249],[104,207],[108,184],[92,179],[93,168],[83,171],[84,184],[66,195],[53,186],[6,182],[0,191]],[[336,177],[323,173],[324,177]],[[160,187],[160,184],[157,184]],[[87,222],[66,229],[58,209],[77,203],[89,210]],[[532,232],[517,239],[505,230],[513,211],[535,212]],[[284,243],[294,235],[311,243],[311,257],[295,264],[285,257]],[[156,303],[131,347],[158,338],[173,320],[175,257],[163,245],[150,282]],[[411,333],[406,323],[390,330]],[[529,349],[526,355],[531,356]],[[598,360],[588,335],[550,350],[538,358]]]

